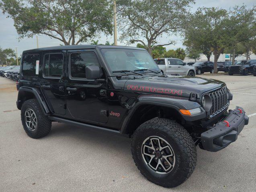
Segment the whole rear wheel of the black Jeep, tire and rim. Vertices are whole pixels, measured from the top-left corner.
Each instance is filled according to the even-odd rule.
[[[46,136],[51,130],[51,121],[45,116],[36,99],[23,103],[21,122],[27,135],[34,139]]]

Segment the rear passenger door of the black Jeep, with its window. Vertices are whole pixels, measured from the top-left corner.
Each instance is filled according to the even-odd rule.
[[[40,87],[51,111],[66,114],[65,81],[63,68],[66,63],[66,51],[43,52],[42,79]]]

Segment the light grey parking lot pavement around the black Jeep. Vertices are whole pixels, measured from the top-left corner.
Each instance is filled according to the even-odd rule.
[[[32,139],[16,108],[15,82],[0,77],[0,191],[256,191],[256,77],[200,75],[226,82],[230,109],[242,106],[249,124],[219,152],[197,147],[197,166],[184,184],[168,189],[145,179],[131,157],[129,138],[54,122]]]

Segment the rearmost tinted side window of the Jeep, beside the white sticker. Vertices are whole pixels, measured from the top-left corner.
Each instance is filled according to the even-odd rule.
[[[22,75],[36,76],[36,63],[39,61],[39,54],[28,54],[23,56],[22,60]],[[40,62],[39,62],[40,64]]]

